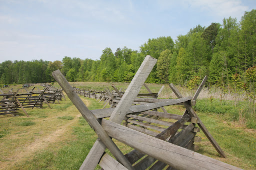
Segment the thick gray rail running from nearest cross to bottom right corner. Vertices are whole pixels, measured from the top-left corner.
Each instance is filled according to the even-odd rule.
[[[241,170],[105,119],[101,126],[110,137],[178,170]]]

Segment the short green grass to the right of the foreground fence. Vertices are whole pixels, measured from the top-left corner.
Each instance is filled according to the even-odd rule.
[[[197,113],[207,130],[227,155],[228,164],[248,169],[256,168],[256,133],[237,126],[235,122],[223,121],[224,115]],[[199,132],[202,141],[198,143],[200,154],[218,159],[218,154],[208,142],[208,139]]]

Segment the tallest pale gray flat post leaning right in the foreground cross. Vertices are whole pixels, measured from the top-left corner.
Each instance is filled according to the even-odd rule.
[[[121,124],[156,61],[157,59],[149,55],[145,57],[129,86],[125,90],[125,93],[122,95],[122,98],[111,114],[109,118],[110,121]],[[94,170],[104,151],[105,146],[103,146],[100,140],[96,140],[86,159],[82,163],[80,170]]]

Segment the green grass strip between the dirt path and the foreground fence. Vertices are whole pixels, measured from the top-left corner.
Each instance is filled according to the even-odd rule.
[[[101,109],[102,105],[94,99],[88,99],[89,109]],[[97,105],[95,105],[97,103]],[[62,116],[61,118],[68,116]],[[73,137],[57,148],[52,146],[43,151],[36,152],[32,158],[21,164],[16,164],[13,170],[79,170],[97,136],[83,117],[79,117],[76,125],[72,127]],[[99,167],[97,167],[99,169]]]

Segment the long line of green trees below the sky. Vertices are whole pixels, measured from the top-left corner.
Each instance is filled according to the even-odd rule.
[[[235,84],[253,69],[256,55],[256,10],[208,27],[197,25],[187,34],[148,39],[139,51],[127,47],[105,48],[99,60],[70,58],[62,61],[4,61],[1,83],[52,82],[51,72],[60,69],[68,81],[129,82],[146,55],[158,59],[146,82],[192,86],[208,75],[210,84]],[[248,71],[247,71],[248,72]],[[253,73],[253,75],[256,73]],[[238,77],[238,78],[237,78]],[[248,76],[247,76],[248,77]]]

